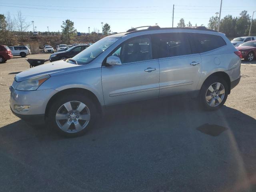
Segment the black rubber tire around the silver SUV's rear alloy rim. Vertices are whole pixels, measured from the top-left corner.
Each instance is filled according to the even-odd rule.
[[[221,83],[222,86],[224,86],[224,97],[222,99],[222,101],[219,103],[218,101],[215,100],[216,104],[218,104],[217,106],[210,106],[210,101],[206,101],[206,94],[209,93],[209,90],[208,88],[214,84],[214,83]],[[215,85],[215,84],[214,84]],[[214,86],[213,85],[213,86]],[[211,94],[211,93],[210,93]],[[220,95],[217,95],[217,96],[222,96],[222,94]],[[223,106],[223,104],[226,102],[226,99],[228,97],[228,83],[226,82],[226,80],[224,80],[223,78],[221,77],[218,77],[218,76],[212,76],[211,78],[207,79],[204,84],[202,85],[201,87],[201,90],[200,90],[200,93],[199,93],[199,104],[200,106],[204,109],[204,110],[217,110],[219,109],[220,107]],[[215,103],[214,102],[214,103]]]

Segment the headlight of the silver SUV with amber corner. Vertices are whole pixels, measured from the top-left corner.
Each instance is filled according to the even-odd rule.
[[[50,78],[50,75],[43,75],[39,77],[34,77],[31,79],[24,80],[20,83],[18,83],[18,86],[16,87],[16,90],[20,91],[32,91],[37,90],[37,88],[45,82],[48,78]]]

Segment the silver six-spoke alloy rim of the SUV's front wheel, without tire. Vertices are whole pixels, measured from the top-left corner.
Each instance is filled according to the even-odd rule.
[[[82,102],[66,102],[57,110],[55,120],[58,127],[64,132],[80,132],[90,122],[90,110]]]

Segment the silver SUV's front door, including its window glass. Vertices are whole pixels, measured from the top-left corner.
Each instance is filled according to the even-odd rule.
[[[112,55],[120,57],[122,64],[102,66],[106,105],[158,97],[159,62],[152,57],[150,36],[127,40]]]

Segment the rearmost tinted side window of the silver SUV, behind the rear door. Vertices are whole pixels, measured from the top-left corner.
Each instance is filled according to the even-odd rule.
[[[218,35],[190,34],[190,44],[193,53],[203,53],[226,45],[226,42]]]

